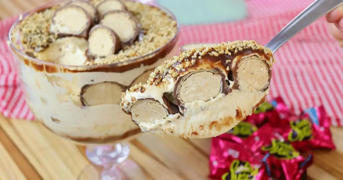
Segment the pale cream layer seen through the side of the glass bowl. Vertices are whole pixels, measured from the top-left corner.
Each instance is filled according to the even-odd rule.
[[[78,52],[79,49],[76,49],[75,53]],[[79,143],[109,143],[125,140],[139,133],[140,130],[131,121],[131,117],[121,110],[119,102],[83,106],[80,100],[82,87],[101,82],[115,82],[123,87],[130,86],[146,70],[157,67],[177,53],[178,48],[175,46],[165,57],[159,58],[155,63],[141,65],[121,73],[87,71],[48,73],[47,68],[38,69],[37,62],[27,60],[19,53],[16,58],[26,102],[37,120],[43,122],[52,132]],[[40,55],[43,56],[43,53]],[[64,60],[62,56],[61,58]],[[83,59],[82,56],[79,56],[79,59]],[[59,60],[61,59],[54,59],[54,61]],[[145,76],[140,79],[146,80],[149,74]],[[115,89],[118,91],[118,88]],[[118,94],[120,97],[125,90],[110,94]],[[102,92],[92,91],[91,93],[94,93],[94,97],[99,97],[99,93]],[[118,99],[118,97],[110,97],[110,94],[100,96]],[[88,93],[87,96],[92,95]]]

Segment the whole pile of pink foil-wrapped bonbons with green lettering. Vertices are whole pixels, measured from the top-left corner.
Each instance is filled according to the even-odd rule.
[[[237,179],[239,173],[230,169],[244,167],[248,162],[250,166],[262,163],[259,173],[249,176],[256,174],[250,169],[239,176],[241,179],[305,180],[306,170],[312,164],[313,154],[309,151],[335,149],[335,145],[330,118],[322,106],[294,115],[278,97],[262,103],[246,120],[213,138],[211,148],[212,179]]]

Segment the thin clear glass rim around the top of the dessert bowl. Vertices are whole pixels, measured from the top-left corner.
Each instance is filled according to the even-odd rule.
[[[62,2],[68,2],[70,0],[63,0]],[[96,64],[96,65],[66,65],[66,64],[57,64],[57,63],[51,63],[51,62],[46,62],[46,61],[42,61],[36,58],[32,58],[29,57],[28,55],[26,55],[25,53],[23,53],[21,50],[17,49],[15,47],[15,45],[13,44],[12,38],[11,38],[11,34],[12,31],[14,29],[14,27],[20,22],[20,18],[25,18],[27,15],[36,12],[42,8],[48,8],[51,7],[52,5],[56,5],[58,3],[61,3],[61,1],[56,0],[56,1],[52,1],[50,3],[46,3],[42,6],[39,6],[38,8],[35,8],[34,10],[28,11],[25,14],[22,14],[21,17],[17,20],[15,20],[15,22],[11,25],[10,31],[8,32],[8,40],[9,40],[9,46],[11,46],[14,51],[18,52],[21,56],[29,59],[30,61],[33,61],[35,63],[39,63],[39,64],[46,64],[46,65],[51,65],[51,66],[55,66],[55,67],[62,67],[62,68],[66,68],[66,69],[78,69],[78,68],[86,68],[86,69],[96,69],[96,68],[111,68],[111,67],[120,67],[120,66],[124,66],[124,65],[130,65],[139,61],[144,60],[146,57],[149,57],[159,51],[161,51],[163,48],[165,48],[166,46],[168,46],[169,44],[173,43],[174,40],[177,40],[179,34],[180,34],[180,24],[179,21],[177,20],[175,14],[173,12],[171,12],[168,8],[164,7],[163,5],[160,4],[156,4],[156,3],[152,3],[152,2],[141,2],[140,0],[126,0],[126,1],[138,1],[142,4],[147,4],[147,5],[151,5],[155,8],[158,8],[159,10],[162,10],[164,12],[166,12],[169,16],[171,16],[173,18],[174,21],[176,21],[176,34],[174,35],[173,38],[171,38],[167,44],[165,44],[164,46],[154,50],[153,52],[147,53],[143,56],[139,56],[139,57],[135,57],[133,59],[127,60],[127,61],[122,61],[122,62],[115,62],[115,63],[110,63],[110,64]],[[13,51],[13,50],[11,50]]]

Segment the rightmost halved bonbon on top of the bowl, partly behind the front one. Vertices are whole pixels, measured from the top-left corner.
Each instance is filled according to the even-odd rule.
[[[137,20],[127,11],[109,11],[103,15],[100,24],[111,28],[122,43],[132,43],[139,33]]]

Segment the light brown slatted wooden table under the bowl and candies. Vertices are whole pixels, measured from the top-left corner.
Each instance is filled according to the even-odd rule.
[[[6,19],[51,0],[0,0]],[[343,179],[343,128],[332,128],[336,151],[316,151],[309,179]],[[130,159],[152,180],[207,179],[210,140],[143,134],[130,143]],[[90,163],[76,146],[36,122],[0,116],[0,180],[74,180]],[[137,178],[136,178],[137,179]]]

